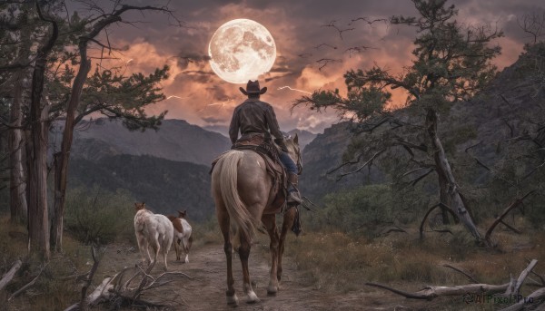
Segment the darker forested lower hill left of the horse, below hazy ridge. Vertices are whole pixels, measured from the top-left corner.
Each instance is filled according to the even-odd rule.
[[[202,221],[214,213],[209,170],[205,165],[145,155],[104,156],[96,161],[75,158],[70,161],[68,185],[129,190],[136,201],[144,201],[157,213],[187,209],[190,219]]]

